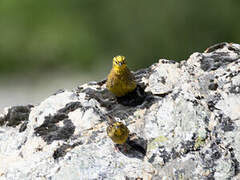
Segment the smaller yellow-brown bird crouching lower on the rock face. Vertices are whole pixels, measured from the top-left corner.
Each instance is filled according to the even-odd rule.
[[[114,122],[107,127],[107,135],[116,144],[124,144],[129,136],[129,130],[121,122]]]

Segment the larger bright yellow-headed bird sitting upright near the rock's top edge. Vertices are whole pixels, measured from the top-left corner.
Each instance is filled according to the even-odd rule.
[[[115,96],[122,97],[137,87],[133,74],[127,67],[124,56],[113,58],[113,67],[107,78],[107,89]]]

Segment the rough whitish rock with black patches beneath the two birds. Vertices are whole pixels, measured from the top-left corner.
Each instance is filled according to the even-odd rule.
[[[135,106],[119,103],[101,81],[8,108],[0,116],[0,179],[239,179],[239,44],[179,63],[161,59],[135,76],[145,91]],[[144,153],[114,148],[109,117],[128,126]]]

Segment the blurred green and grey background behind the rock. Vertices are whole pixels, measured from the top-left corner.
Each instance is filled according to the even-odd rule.
[[[0,108],[240,40],[239,0],[0,1]]]

